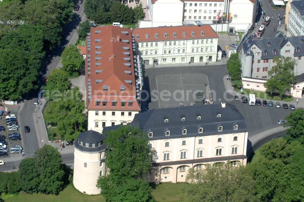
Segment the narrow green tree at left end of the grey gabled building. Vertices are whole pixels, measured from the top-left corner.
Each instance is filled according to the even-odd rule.
[[[231,77],[231,82],[236,88],[242,86],[241,82],[241,61],[238,53],[232,53],[227,61],[227,71]]]

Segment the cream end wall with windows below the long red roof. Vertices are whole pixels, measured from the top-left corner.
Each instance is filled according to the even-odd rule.
[[[113,115],[113,113],[115,115]],[[103,126],[119,125],[132,122],[139,111],[123,110],[88,110],[88,130],[102,132]]]

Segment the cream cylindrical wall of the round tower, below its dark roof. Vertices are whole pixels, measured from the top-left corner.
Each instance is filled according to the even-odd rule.
[[[85,194],[100,194],[96,187],[99,176],[106,175],[105,152],[83,152],[75,147],[74,187]]]

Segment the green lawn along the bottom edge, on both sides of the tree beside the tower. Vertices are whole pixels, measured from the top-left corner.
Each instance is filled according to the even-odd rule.
[[[156,188],[152,192],[152,196],[155,197],[157,201],[166,201],[166,202],[177,202],[179,200],[182,187],[185,183],[162,183],[156,185]],[[35,201],[35,202],[74,202],[74,201],[98,201],[105,202],[102,194],[98,195],[85,195],[76,190],[73,184],[69,184],[63,191],[58,195],[47,195],[42,193],[33,193],[28,194],[25,192],[20,192],[17,195],[2,195],[1,198],[5,202],[16,202],[16,201]]]

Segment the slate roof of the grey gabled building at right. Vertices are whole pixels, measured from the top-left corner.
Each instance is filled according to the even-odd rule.
[[[285,38],[282,33],[278,33],[273,38],[261,39],[254,39],[252,35],[249,35],[242,43],[242,48],[246,56],[253,55],[251,47],[255,44],[262,50],[261,59],[272,59],[281,57],[281,55],[284,56],[284,53],[281,53],[281,49],[288,41],[295,47],[294,56],[304,56],[304,36]],[[277,51],[277,54],[274,54],[274,50]],[[267,55],[265,52],[267,52]]]

